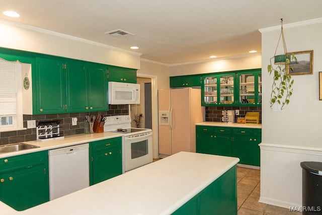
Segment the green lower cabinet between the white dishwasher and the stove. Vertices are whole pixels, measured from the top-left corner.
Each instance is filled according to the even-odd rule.
[[[90,143],[90,184],[122,174],[122,137]]]

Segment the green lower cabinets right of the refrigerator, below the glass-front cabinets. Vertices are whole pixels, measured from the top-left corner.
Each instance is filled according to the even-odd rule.
[[[262,129],[196,126],[196,152],[239,158],[239,164],[260,166]]]

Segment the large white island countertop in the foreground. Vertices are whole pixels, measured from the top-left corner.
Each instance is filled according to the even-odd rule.
[[[238,158],[180,152],[24,211],[6,215],[170,214],[238,163]]]

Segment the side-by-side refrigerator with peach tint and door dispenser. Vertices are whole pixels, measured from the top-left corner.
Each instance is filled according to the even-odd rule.
[[[158,147],[160,157],[196,152],[196,123],[202,122],[201,90],[158,90]]]

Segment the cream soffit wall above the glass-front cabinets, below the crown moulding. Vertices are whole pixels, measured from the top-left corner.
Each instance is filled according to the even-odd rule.
[[[216,73],[219,71],[234,71],[241,69],[252,69],[262,67],[262,57],[260,53],[247,56],[218,58],[203,62],[187,63],[181,65],[171,65],[169,67],[170,76],[183,76],[204,73]]]

